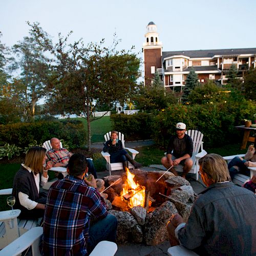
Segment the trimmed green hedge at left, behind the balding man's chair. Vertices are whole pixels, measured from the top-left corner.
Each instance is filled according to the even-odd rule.
[[[84,147],[87,142],[83,123],[76,119],[0,125],[1,146],[9,143],[24,148],[34,140],[40,144],[52,137],[65,140],[70,149]]]

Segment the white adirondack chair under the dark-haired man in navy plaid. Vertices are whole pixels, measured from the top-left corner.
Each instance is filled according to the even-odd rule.
[[[32,256],[40,256],[39,243],[41,239],[43,229],[42,227],[34,227],[28,232],[14,240],[12,243],[7,245],[4,249],[0,251],[0,256],[17,256],[24,252],[30,246],[32,246]],[[90,256],[113,256],[117,251],[116,243],[109,241],[99,242]]]

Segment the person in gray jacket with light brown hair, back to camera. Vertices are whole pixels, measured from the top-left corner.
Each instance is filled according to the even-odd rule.
[[[171,246],[181,244],[200,255],[256,255],[256,195],[230,181],[221,156],[208,154],[199,165],[207,188],[187,223],[178,214],[167,223]]]

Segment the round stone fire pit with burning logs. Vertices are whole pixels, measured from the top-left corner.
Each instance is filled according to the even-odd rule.
[[[194,202],[193,188],[170,172],[156,183],[163,173],[127,169],[122,176],[108,176],[104,182],[97,182],[99,191],[115,182],[101,196],[118,219],[118,243],[160,244],[168,239],[166,224],[173,214],[179,212],[187,219]]]

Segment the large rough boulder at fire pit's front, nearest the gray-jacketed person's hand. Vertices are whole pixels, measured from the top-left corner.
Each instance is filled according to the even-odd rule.
[[[146,217],[143,238],[147,245],[158,245],[168,239],[166,224],[178,211],[172,202],[166,201]]]

